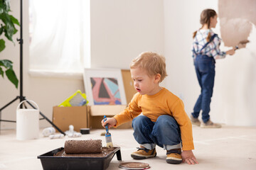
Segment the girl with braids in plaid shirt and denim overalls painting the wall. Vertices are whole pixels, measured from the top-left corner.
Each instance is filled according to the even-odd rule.
[[[221,39],[213,33],[211,28],[215,28],[218,15],[213,9],[205,9],[201,13],[200,23],[202,27],[193,33],[193,61],[196,68],[196,76],[201,86],[201,94],[191,113],[191,123],[201,128],[221,128],[218,123],[210,120],[210,98],[213,96],[213,86],[215,77],[215,60],[223,59],[226,55],[234,55],[235,50],[226,52],[220,51]],[[198,120],[202,110],[202,120]]]

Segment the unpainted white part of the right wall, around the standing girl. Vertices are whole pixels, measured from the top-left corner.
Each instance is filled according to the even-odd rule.
[[[188,114],[193,111],[201,90],[193,67],[191,43],[192,33],[201,27],[200,13],[205,8],[213,8],[218,13],[218,1],[164,0],[164,51],[169,74],[166,85],[183,99]],[[220,35],[219,25],[214,31]],[[255,28],[249,40],[251,42],[246,49],[216,61],[215,86],[210,105],[210,118],[215,122],[256,125]],[[221,46],[221,49],[228,48]]]

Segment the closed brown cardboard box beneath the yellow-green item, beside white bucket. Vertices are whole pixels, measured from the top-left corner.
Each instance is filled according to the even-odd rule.
[[[89,128],[89,106],[53,107],[53,123],[63,132],[69,125],[80,132],[80,128]],[[58,131],[58,130],[57,130]]]

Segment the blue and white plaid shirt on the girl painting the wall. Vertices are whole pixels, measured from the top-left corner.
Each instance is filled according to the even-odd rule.
[[[196,53],[200,52],[202,49],[203,45],[207,43],[207,36],[210,31],[210,35],[213,36],[213,30],[198,30],[196,33],[196,37],[193,39],[193,45],[192,45],[192,53],[193,53],[193,59],[196,59]],[[220,51],[220,42],[221,39],[218,38],[218,36],[215,36],[212,42],[210,42],[203,50],[201,53],[203,55],[208,55],[208,57],[214,57],[214,59],[221,59],[225,58],[225,52]],[[195,52],[193,51],[195,50]]]

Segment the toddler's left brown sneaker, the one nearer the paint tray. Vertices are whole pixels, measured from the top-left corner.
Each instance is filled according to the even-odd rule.
[[[131,157],[133,159],[146,159],[151,157],[156,157],[156,149],[146,149],[145,147],[137,147],[136,152],[132,152]]]

